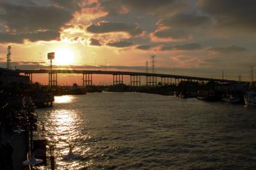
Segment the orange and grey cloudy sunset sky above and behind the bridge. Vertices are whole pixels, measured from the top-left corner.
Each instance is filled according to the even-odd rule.
[[[157,73],[249,81],[255,9],[254,0],[0,0],[0,66],[12,45],[13,69],[47,69],[55,52],[56,67],[145,72],[156,55]]]

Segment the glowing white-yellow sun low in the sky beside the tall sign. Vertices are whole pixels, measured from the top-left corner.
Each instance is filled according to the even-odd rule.
[[[74,53],[67,48],[59,48],[55,52],[54,62],[56,65],[68,65],[74,62]]]

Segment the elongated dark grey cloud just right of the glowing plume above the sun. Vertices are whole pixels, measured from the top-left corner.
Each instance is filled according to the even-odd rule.
[[[97,24],[88,26],[86,30],[95,34],[108,32],[127,32],[131,36],[138,36],[143,33],[138,24],[127,25],[117,22],[98,22]]]

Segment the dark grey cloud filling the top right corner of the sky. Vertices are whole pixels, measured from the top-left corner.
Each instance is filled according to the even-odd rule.
[[[255,0],[199,0],[198,8],[211,15],[219,27],[256,29]]]

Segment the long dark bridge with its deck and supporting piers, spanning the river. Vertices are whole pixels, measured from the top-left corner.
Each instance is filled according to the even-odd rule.
[[[162,85],[178,85],[180,81],[214,81],[220,83],[238,83],[236,80],[222,80],[216,78],[202,78],[196,76],[179,76],[173,74],[159,74],[159,73],[140,73],[140,72],[127,72],[127,71],[101,71],[101,70],[76,70],[76,69],[38,69],[38,70],[17,70],[19,73],[24,73],[29,76],[29,80],[32,81],[33,74],[49,74],[49,85],[58,85],[57,74],[83,74],[83,86],[92,85],[92,74],[111,74],[113,75],[113,85],[123,84],[124,76],[130,76],[131,86],[141,86],[141,76],[146,77],[147,86],[156,86],[157,78],[161,78]]]

